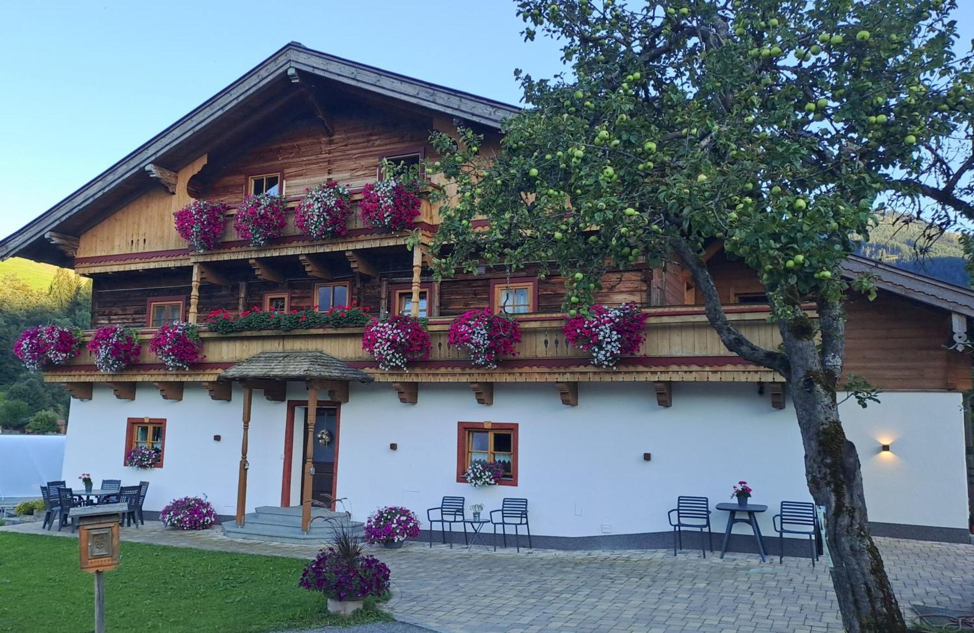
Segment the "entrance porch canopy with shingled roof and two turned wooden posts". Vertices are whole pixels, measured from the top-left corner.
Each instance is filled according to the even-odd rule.
[[[261,352],[254,354],[220,374],[221,381],[240,381],[244,385],[244,439],[241,448],[240,473],[237,483],[237,525],[244,525],[246,507],[247,430],[250,427],[250,404],[253,390],[264,391],[269,400],[284,401],[288,381],[303,381],[308,387],[308,419],[305,443],[304,485],[301,493],[301,529],[308,532],[311,523],[312,456],[315,447],[315,423],[318,418],[318,391],[330,391],[337,402],[349,401],[349,384],[371,383],[372,377],[338,358],[323,352]]]

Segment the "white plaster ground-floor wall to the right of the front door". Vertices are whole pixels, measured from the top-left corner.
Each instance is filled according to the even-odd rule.
[[[674,384],[670,408],[658,407],[646,384],[580,384],[577,407],[562,405],[548,385],[497,384],[492,406],[476,404],[463,384],[424,384],[415,405],[390,391],[354,386],[342,407],[338,496],[349,498],[358,519],[401,503],[425,523],[426,508],[444,495],[485,509],[525,497],[535,534],[656,532],[669,529],[666,510],[678,495],[731,502],[731,486],[743,479],[756,503],[771,506],[762,520],[771,534],[778,502],[810,501],[794,410],[790,403],[772,409],[754,385]],[[885,393],[882,400],[866,410],[843,406],[847,433],[863,454],[870,518],[966,528],[960,395]],[[519,424],[517,487],[455,481],[457,422],[485,420]],[[881,433],[899,438],[893,459],[876,455]],[[714,512],[715,530],[726,517]]]

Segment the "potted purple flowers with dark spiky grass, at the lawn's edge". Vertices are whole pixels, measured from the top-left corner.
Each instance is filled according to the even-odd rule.
[[[298,584],[328,598],[328,611],[351,615],[368,596],[389,591],[389,567],[374,556],[362,554],[361,541],[340,528],[301,574]]]

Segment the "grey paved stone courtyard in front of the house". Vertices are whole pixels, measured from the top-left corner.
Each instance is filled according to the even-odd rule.
[[[0,528],[40,533],[38,523]],[[44,534],[57,534],[56,531]],[[60,533],[71,536],[69,530]],[[181,533],[147,522],[123,540],[226,551],[311,557],[310,545],[230,540],[217,530]],[[692,538],[691,538],[692,539]],[[878,539],[900,605],[971,609],[974,545]],[[691,540],[688,544],[693,545]],[[368,547],[393,571],[398,619],[448,633],[552,631],[819,633],[842,631],[824,560],[689,550],[496,553],[419,542],[398,550]]]

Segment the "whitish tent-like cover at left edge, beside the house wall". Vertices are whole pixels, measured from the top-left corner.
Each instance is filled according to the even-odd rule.
[[[40,498],[40,487],[61,479],[64,435],[0,435],[0,502]]]

